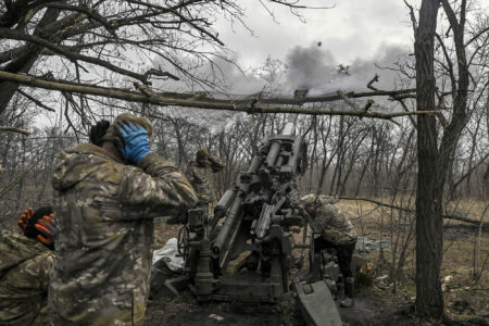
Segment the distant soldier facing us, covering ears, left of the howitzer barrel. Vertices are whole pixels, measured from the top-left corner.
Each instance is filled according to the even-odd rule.
[[[197,151],[196,161],[191,161],[187,167],[187,178],[199,197],[199,208],[209,213],[209,204],[215,202],[215,189],[213,174],[224,168],[218,158],[210,156],[205,149]]]

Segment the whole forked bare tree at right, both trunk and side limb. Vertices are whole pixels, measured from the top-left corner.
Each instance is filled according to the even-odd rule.
[[[449,32],[455,58],[449,54],[444,40],[437,36],[437,17],[440,4],[449,22]],[[457,5],[454,9],[452,5]],[[415,29],[416,96],[417,110],[427,110],[447,104],[439,96],[435,78],[435,38],[446,59],[444,68],[450,78],[451,111],[449,120],[438,115],[442,126],[441,138],[435,116],[417,118],[418,175],[416,196],[416,311],[425,316],[443,316],[443,297],[440,284],[442,260],[442,202],[448,172],[451,170],[455,149],[467,123],[469,92],[469,65],[465,41],[467,2],[450,3],[448,0],[423,1],[419,23]],[[414,15],[413,15],[414,17]],[[487,30],[487,29],[486,29]],[[454,63],[456,62],[456,64]]]

